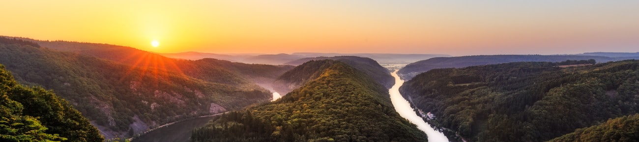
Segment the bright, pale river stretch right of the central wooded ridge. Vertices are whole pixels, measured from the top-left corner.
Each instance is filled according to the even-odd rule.
[[[393,103],[395,111],[397,111],[397,113],[399,113],[401,117],[404,117],[411,123],[417,125],[417,129],[426,132],[426,135],[428,135],[428,141],[449,141],[442,132],[435,131],[435,129],[433,129],[430,124],[424,122],[424,119],[422,119],[422,117],[419,117],[417,113],[413,111],[413,108],[410,107],[410,103],[406,101],[406,99],[404,99],[401,94],[399,94],[399,87],[404,84],[404,80],[401,80],[401,78],[399,78],[399,76],[397,75],[397,71],[398,69],[396,69],[392,73],[392,76],[395,78],[395,85],[393,85],[393,87],[391,87],[389,90],[390,101]]]

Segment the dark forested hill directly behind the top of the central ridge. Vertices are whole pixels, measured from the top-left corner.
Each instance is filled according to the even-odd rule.
[[[395,83],[394,78],[390,76],[389,70],[380,66],[380,64],[378,64],[373,59],[364,58],[364,57],[355,57],[355,56],[335,56],[335,57],[306,58],[306,59],[300,59],[300,60],[286,63],[286,64],[297,66],[299,64],[302,64],[298,62],[304,61],[305,62],[304,64],[309,64],[309,65],[302,66],[302,67],[295,67],[294,69],[291,69],[291,71],[288,71],[284,73],[283,75],[279,76],[279,78],[275,80],[275,83],[273,83],[273,88],[277,90],[277,92],[280,92],[281,94],[286,94],[293,89],[301,87],[302,85],[304,85],[304,83],[310,80],[313,80],[314,78],[317,78],[318,75],[314,74],[314,73],[318,73],[316,71],[323,69],[322,67],[326,67],[326,66],[323,66],[325,65],[324,63],[325,61],[321,61],[321,62],[308,62],[308,61],[309,60],[311,61],[326,60],[326,59],[339,60],[352,67],[355,67],[356,69],[360,71],[364,71],[364,73],[366,73],[369,76],[372,76],[373,80],[380,83],[387,89],[390,89],[390,87],[392,87],[392,85]],[[310,65],[310,64],[315,64],[315,65]]]

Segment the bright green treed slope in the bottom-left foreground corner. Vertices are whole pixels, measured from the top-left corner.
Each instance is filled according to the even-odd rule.
[[[41,87],[25,87],[0,64],[0,141],[104,141],[68,102]]]

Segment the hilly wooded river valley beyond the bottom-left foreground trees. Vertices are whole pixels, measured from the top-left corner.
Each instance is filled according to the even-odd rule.
[[[633,95],[639,65],[635,57],[620,57],[633,53],[435,57],[410,67],[335,56],[266,65],[22,39],[0,40],[0,64],[15,82],[67,100],[93,126],[82,126],[93,136],[51,127],[64,137],[50,139],[562,141],[602,135],[592,129],[625,138],[633,131],[610,125],[635,127],[639,110]],[[410,69],[425,72],[402,73]]]

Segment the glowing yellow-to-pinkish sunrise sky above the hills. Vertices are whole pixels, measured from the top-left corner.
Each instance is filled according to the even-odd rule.
[[[639,1],[622,0],[22,0],[0,17],[2,36],[160,53],[639,52]]]

